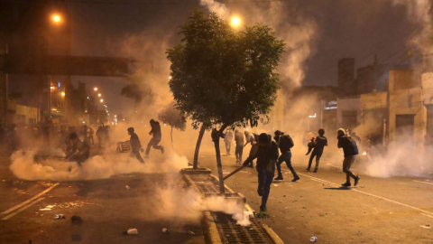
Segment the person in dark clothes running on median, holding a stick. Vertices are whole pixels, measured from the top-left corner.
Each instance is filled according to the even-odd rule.
[[[244,162],[244,166],[250,164],[253,159],[257,158],[256,170],[259,178],[257,193],[262,196],[262,205],[260,211],[267,211],[266,203],[268,202],[271,183],[275,175],[275,162],[278,158],[278,145],[272,141],[271,136],[262,133],[257,143],[258,149],[254,155],[250,155]]]

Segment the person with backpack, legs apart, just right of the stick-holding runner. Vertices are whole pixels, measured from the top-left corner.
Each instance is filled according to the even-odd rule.
[[[283,180],[282,174],[281,174],[281,164],[282,162],[286,162],[287,167],[290,169],[291,174],[293,174],[294,178],[291,180],[292,182],[298,181],[300,178],[298,174],[296,174],[295,169],[291,165],[291,151],[290,148],[295,145],[293,143],[293,140],[289,135],[284,135],[283,132],[280,130],[275,131],[275,142],[278,144],[278,147],[280,147],[281,156],[278,158],[277,162],[277,170],[278,170],[278,176],[275,178],[275,181],[281,181]]]

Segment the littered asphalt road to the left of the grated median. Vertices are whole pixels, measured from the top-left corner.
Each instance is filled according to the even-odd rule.
[[[123,174],[80,182],[21,181],[0,159],[0,243],[204,243],[199,221],[163,216],[155,201],[167,182],[183,182],[178,174]],[[129,186],[129,190],[126,189]],[[42,194],[45,192],[45,194]],[[174,205],[175,207],[175,205]],[[55,214],[66,219],[54,220]],[[81,224],[70,221],[72,215]],[[123,231],[138,230],[124,236]],[[169,234],[161,230],[167,228]],[[189,231],[194,233],[191,234]]]

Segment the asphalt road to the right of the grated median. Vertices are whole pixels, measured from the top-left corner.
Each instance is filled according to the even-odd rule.
[[[225,175],[239,167],[233,155],[222,160]],[[202,151],[199,162],[217,175],[214,152]],[[291,183],[282,164],[284,180],[272,183],[267,206],[272,218],[263,220],[285,243],[309,243],[313,236],[318,243],[433,243],[433,230],[426,226],[433,227],[433,179],[360,174],[358,186],[347,189],[340,187],[345,183],[341,162],[324,159],[317,174],[305,170],[308,157],[293,162],[299,182]],[[360,167],[355,163],[354,172]],[[255,168],[245,168],[226,184],[259,211]]]

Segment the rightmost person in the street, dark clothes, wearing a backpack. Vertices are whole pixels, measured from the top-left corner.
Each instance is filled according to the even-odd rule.
[[[350,167],[354,164],[355,155],[358,155],[358,146],[354,139],[345,135],[345,129],[340,128],[336,131],[338,139],[338,148],[343,148],[345,160],[343,160],[343,172],[345,173],[345,183],[343,186],[351,186],[350,178],[354,178],[355,186],[358,184],[360,177],[350,171]]]

